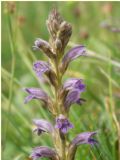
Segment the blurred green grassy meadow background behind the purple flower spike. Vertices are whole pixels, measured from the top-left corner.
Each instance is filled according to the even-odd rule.
[[[70,22],[73,34],[66,51],[84,44],[91,56],[72,62],[64,77],[83,78],[87,102],[71,107],[75,128],[71,140],[82,131],[98,130],[98,148],[80,146],[76,160],[119,160],[120,154],[120,32],[101,27],[107,20],[120,28],[120,2],[2,2],[2,160],[29,160],[32,147],[52,146],[48,135],[32,133],[32,119],[52,120],[37,100],[24,105],[24,87],[41,87],[32,70],[42,52],[33,52],[34,40],[48,40],[46,19],[56,7]],[[91,51],[91,52],[90,52]],[[63,79],[63,81],[64,81]]]

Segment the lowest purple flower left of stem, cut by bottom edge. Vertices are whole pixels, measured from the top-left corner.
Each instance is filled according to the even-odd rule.
[[[59,160],[59,157],[54,149],[46,146],[40,146],[33,149],[30,158],[33,160],[39,158],[50,158],[51,160]]]

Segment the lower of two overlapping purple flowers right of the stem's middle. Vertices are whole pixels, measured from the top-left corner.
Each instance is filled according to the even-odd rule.
[[[65,109],[69,109],[70,106],[74,103],[78,103],[80,100],[80,90],[79,89],[73,89],[68,92],[65,100],[64,100],[64,107]]]

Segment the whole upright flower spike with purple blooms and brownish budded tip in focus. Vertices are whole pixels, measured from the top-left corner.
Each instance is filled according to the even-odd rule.
[[[30,157],[33,160],[42,157],[51,160],[74,160],[79,145],[94,145],[97,143],[92,138],[96,132],[80,133],[71,142],[67,141],[68,131],[73,128],[73,124],[69,121],[70,107],[74,103],[82,105],[85,102],[85,99],[81,98],[82,92],[85,91],[85,84],[79,78],[69,78],[62,84],[62,77],[71,61],[86,54],[86,48],[83,45],[77,45],[64,55],[65,47],[72,34],[72,27],[61,18],[56,9],[53,9],[48,17],[47,28],[50,33],[49,43],[38,38],[33,49],[45,53],[48,62],[35,62],[33,70],[40,79],[45,74],[49,83],[53,86],[54,97],[51,98],[39,88],[25,88],[28,93],[25,103],[32,99],[38,99],[45,103],[45,107],[53,116],[55,124],[52,125],[44,119],[34,119],[33,123],[36,126],[34,132],[37,135],[45,132],[49,133],[53,139],[54,148],[36,147]]]

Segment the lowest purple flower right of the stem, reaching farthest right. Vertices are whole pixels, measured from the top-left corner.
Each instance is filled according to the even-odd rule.
[[[92,138],[92,136],[94,136],[96,133],[97,132],[83,132],[83,133],[80,133],[78,136],[76,136],[72,140],[71,144],[75,145],[75,146],[78,146],[80,144],[90,144],[90,145],[96,144],[97,141]]]

